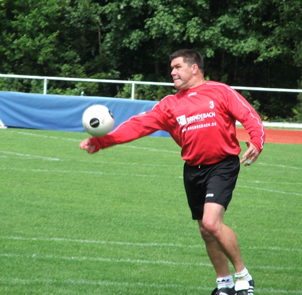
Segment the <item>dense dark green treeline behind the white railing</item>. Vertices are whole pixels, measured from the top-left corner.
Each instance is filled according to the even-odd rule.
[[[0,0],[0,73],[172,82],[168,56],[201,52],[207,79],[302,88],[301,0]],[[0,79],[39,92],[40,80]],[[138,99],[167,87],[137,86]],[[124,85],[51,81],[48,93],[129,97]],[[302,95],[242,91],[264,119],[301,121]]]

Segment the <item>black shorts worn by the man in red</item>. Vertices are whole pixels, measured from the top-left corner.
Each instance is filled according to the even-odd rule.
[[[227,210],[239,170],[238,156],[210,165],[184,164],[183,181],[193,219],[202,219],[204,203],[217,203]]]

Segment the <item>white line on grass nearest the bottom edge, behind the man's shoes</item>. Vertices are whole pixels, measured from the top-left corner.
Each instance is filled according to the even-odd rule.
[[[148,284],[144,282],[117,282],[117,281],[92,281],[92,280],[55,280],[55,279],[43,279],[43,278],[31,278],[22,279],[16,277],[0,277],[0,282],[3,284],[20,284],[20,285],[31,285],[31,284],[65,284],[65,285],[87,285],[87,286],[118,286],[118,287],[144,287],[152,289],[164,289],[173,288],[180,290],[197,290],[197,291],[212,291],[213,287],[201,287],[201,286],[183,286],[179,284]],[[180,289],[180,290],[179,290]],[[273,288],[257,288],[260,293],[268,294],[302,294],[302,290],[277,290]]]

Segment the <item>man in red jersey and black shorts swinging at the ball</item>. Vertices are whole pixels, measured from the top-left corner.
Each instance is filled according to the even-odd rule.
[[[83,140],[80,148],[94,153],[157,130],[168,131],[181,147],[188,204],[216,271],[217,288],[212,295],[253,295],[254,281],[242,261],[237,237],[223,223],[223,216],[240,163],[252,165],[263,148],[261,119],[234,89],[204,80],[199,52],[178,50],[170,60],[174,86],[179,90],[175,95],[166,96],[151,111],[130,118],[104,137]],[[251,137],[241,160],[236,120]],[[235,282],[228,260],[235,269]]]

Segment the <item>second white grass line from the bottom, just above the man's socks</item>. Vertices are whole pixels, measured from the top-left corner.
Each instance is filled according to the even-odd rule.
[[[104,257],[77,257],[77,256],[56,256],[52,254],[15,254],[15,253],[1,253],[0,257],[6,258],[27,258],[27,259],[49,259],[49,260],[70,260],[70,261],[92,261],[92,262],[108,262],[108,263],[130,263],[130,264],[155,264],[155,265],[169,265],[169,266],[204,266],[213,267],[209,263],[190,263],[190,262],[175,262],[165,260],[146,260],[146,259],[129,259],[129,258],[104,258]],[[282,270],[282,271],[296,271],[301,270],[302,267],[283,267],[283,266],[249,266],[252,269],[267,269],[267,270]]]

